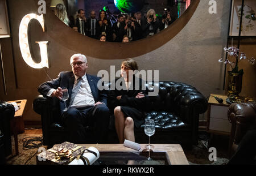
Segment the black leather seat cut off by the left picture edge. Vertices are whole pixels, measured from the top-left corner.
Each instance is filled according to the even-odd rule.
[[[5,157],[11,154],[11,126],[14,118],[14,106],[8,102],[0,101],[0,163],[5,162]]]

